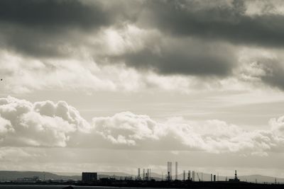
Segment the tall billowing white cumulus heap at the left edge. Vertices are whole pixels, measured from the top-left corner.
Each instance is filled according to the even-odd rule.
[[[0,98],[1,145],[65,147],[72,132],[88,132],[89,123],[67,103],[31,103]]]

